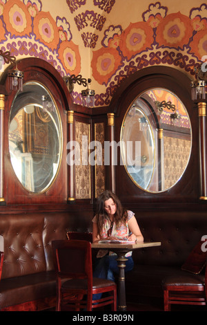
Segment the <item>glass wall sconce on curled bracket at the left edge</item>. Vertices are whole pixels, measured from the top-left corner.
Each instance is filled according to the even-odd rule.
[[[23,90],[23,72],[17,68],[16,57],[12,56],[9,51],[3,52],[0,50],[0,57],[3,57],[6,64],[15,64],[15,68],[8,71],[10,79],[10,90]]]

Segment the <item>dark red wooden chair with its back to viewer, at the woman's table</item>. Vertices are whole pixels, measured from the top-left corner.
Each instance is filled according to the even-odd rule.
[[[57,275],[56,310],[92,310],[111,305],[117,310],[115,282],[92,277],[91,243],[83,240],[52,241]],[[108,293],[92,300],[92,295]]]

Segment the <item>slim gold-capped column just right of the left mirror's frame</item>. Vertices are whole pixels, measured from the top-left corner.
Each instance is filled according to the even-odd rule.
[[[74,141],[74,111],[68,111],[68,140],[69,142]],[[72,156],[70,155],[68,158],[70,161],[68,162],[68,203],[74,203],[75,201],[75,162],[72,162]]]

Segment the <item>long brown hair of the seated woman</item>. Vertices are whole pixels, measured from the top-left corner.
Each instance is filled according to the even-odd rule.
[[[107,201],[109,198],[112,198],[114,203],[117,205],[117,211],[114,215],[114,223],[116,225],[119,225],[121,222],[126,223],[127,220],[127,211],[123,209],[121,202],[119,201],[119,198],[114,194],[113,192],[106,190],[103,193],[99,195],[97,198],[97,225],[98,225],[98,233],[100,234],[101,228],[103,227],[103,222],[105,219],[108,218],[108,214],[105,211],[105,201]]]

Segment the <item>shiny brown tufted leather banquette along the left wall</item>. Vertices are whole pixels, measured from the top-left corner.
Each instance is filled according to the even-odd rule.
[[[6,214],[0,216],[4,261],[0,308],[55,297],[51,242],[66,239],[75,228],[68,213]]]

